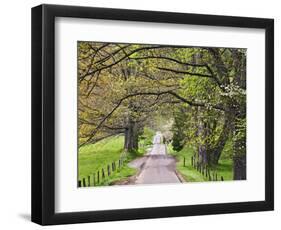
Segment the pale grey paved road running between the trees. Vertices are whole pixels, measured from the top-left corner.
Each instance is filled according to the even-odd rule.
[[[177,177],[176,160],[167,155],[166,146],[161,144],[162,135],[157,133],[153,147],[146,156],[132,161],[129,165],[140,170],[132,184],[180,183]]]

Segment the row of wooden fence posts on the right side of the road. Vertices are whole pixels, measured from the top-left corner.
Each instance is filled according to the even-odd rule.
[[[198,160],[196,160],[195,156],[192,156],[190,159],[190,164],[193,168],[195,168],[199,173],[201,173],[204,177],[206,177],[209,181],[223,181],[223,176],[219,176],[216,170],[210,169],[207,165],[201,164]],[[183,157],[183,166],[187,166],[186,158]]]

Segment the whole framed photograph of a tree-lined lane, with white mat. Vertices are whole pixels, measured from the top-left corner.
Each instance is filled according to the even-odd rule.
[[[273,210],[273,19],[32,8],[32,221]]]

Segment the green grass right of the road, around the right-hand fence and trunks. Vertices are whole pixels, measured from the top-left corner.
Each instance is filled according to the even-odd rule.
[[[232,159],[230,157],[230,143],[227,143],[219,161],[219,165],[217,167],[217,175],[218,179],[223,176],[224,180],[232,180],[233,172],[232,172]],[[194,150],[188,146],[184,147],[180,152],[175,152],[172,149],[172,146],[168,146],[168,152],[175,156],[178,160],[177,162],[177,170],[181,173],[184,179],[187,182],[202,182],[208,181],[207,177],[204,177],[201,173],[199,173],[195,168],[191,165],[191,157],[194,154]],[[183,158],[186,159],[186,166],[183,166]]]

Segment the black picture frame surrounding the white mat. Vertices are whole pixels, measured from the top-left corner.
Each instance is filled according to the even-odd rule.
[[[55,17],[265,29],[265,200],[55,213]],[[274,209],[274,20],[110,8],[32,8],[32,221],[41,225],[267,211]]]

